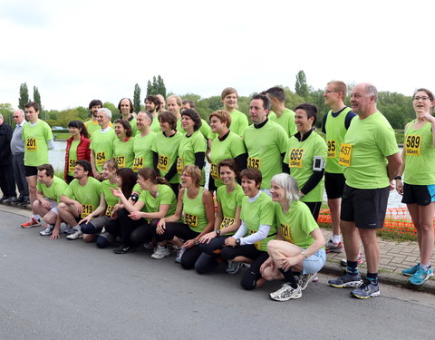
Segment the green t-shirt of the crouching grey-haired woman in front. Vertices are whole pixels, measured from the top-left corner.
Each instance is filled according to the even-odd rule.
[[[274,205],[276,225],[281,228],[284,239],[301,248],[310,247],[314,243],[310,234],[319,226],[308,206],[296,200],[285,213],[278,203]]]

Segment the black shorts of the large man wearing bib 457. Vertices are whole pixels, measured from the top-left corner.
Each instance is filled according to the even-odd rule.
[[[382,228],[389,194],[389,187],[356,189],[344,185],[340,219],[355,222],[357,228]]]

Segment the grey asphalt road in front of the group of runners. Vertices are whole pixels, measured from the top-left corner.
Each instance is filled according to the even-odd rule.
[[[279,303],[224,267],[199,276],[150,252],[50,240],[0,211],[1,339],[430,339],[435,297],[383,285],[366,301],[320,276]]]

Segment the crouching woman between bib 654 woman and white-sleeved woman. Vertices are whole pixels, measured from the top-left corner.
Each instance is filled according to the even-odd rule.
[[[237,136],[237,138],[240,137]],[[198,274],[207,273],[222,262],[219,254],[225,246],[225,239],[234,235],[241,223],[240,210],[245,193],[236,181],[238,174],[236,160],[221,160],[218,163],[218,171],[224,185],[220,186],[216,192],[218,210],[215,230],[199,239],[199,249],[202,254],[195,264]],[[236,274],[240,267],[240,262],[229,261],[227,273]]]

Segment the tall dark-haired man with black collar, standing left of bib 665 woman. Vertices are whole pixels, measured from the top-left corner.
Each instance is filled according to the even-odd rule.
[[[283,172],[283,160],[287,151],[288,137],[284,129],[267,119],[269,100],[264,94],[252,97],[249,115],[254,124],[243,135],[247,147],[247,167],[261,171],[263,181],[261,189],[270,188],[270,179]]]

